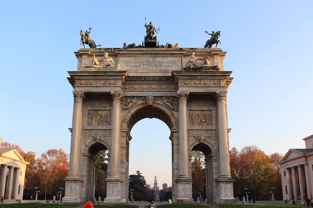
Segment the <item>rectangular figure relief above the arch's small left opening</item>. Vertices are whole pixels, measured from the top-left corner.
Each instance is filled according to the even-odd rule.
[[[108,126],[111,124],[110,110],[88,110],[88,125]]]

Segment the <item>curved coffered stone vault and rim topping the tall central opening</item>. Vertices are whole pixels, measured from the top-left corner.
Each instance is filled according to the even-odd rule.
[[[153,105],[147,105],[146,103],[141,103],[133,107],[125,115],[122,120],[121,128],[131,128],[141,119],[146,118],[156,118],[160,119],[167,124],[168,128],[178,128],[177,119],[171,110],[166,108],[164,105],[159,103],[154,103]]]

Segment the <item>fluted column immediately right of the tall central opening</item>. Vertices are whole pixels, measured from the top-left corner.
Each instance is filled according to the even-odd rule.
[[[188,143],[187,143],[187,99],[189,92],[177,91],[179,101],[179,178],[189,177],[188,174]]]

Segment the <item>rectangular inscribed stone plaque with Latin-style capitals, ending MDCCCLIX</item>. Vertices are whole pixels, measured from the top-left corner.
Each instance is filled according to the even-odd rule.
[[[181,70],[182,56],[118,56],[118,70]]]

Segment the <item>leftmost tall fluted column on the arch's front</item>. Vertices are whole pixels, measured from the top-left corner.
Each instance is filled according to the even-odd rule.
[[[84,91],[72,91],[74,95],[71,151],[69,157],[69,176],[80,173],[80,137]]]

